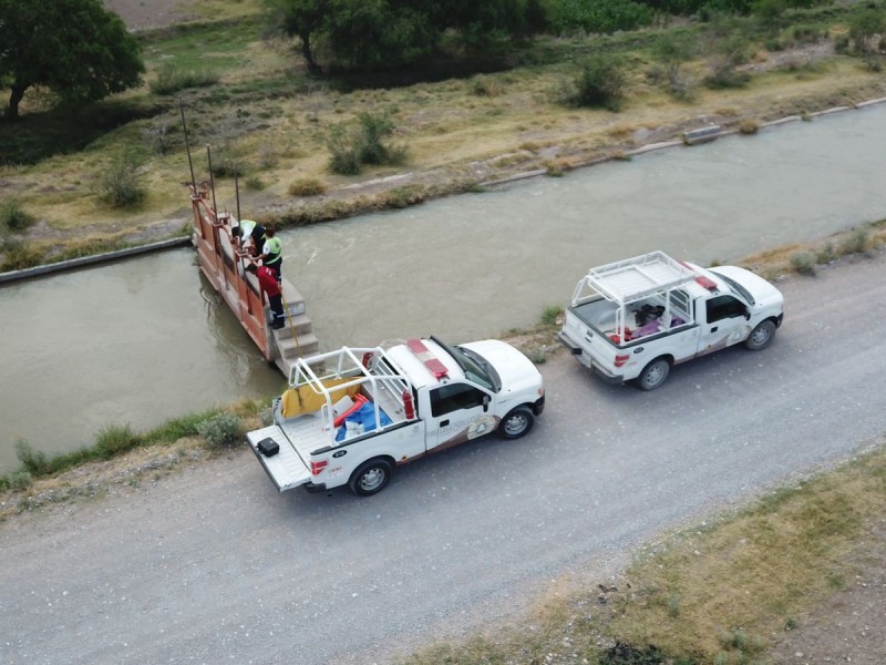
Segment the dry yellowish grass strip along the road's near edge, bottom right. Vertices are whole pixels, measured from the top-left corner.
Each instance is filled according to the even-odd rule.
[[[615,584],[557,590],[527,623],[422,649],[408,665],[740,665],[855,574],[886,510],[886,448],[664,535]]]

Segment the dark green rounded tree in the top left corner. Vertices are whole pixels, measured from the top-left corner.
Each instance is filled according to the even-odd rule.
[[[9,120],[34,85],[65,101],[95,101],[138,85],[145,71],[138,41],[101,0],[0,0],[0,34]]]

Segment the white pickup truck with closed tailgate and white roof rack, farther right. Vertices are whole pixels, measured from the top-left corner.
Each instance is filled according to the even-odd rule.
[[[767,347],[783,316],[781,291],[744,268],[704,269],[652,252],[591,268],[559,339],[605,380],[652,390],[678,362],[742,341]]]

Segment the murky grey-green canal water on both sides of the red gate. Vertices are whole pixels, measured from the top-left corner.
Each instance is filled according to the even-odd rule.
[[[495,337],[565,305],[594,265],[723,263],[886,217],[884,155],[877,104],[288,231],[284,273],[324,350]],[[190,249],[3,286],[0,313],[0,472],[20,440],[55,454],[284,387]]]

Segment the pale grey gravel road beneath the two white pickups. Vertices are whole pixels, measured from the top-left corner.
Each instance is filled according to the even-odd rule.
[[[278,494],[241,449],[12,519],[0,662],[382,664],[518,618],[554,580],[615,572],[662,530],[874,441],[885,275],[879,252],[784,282],[772,347],[652,392],[555,354],[529,436],[416,462],[370,499]]]

